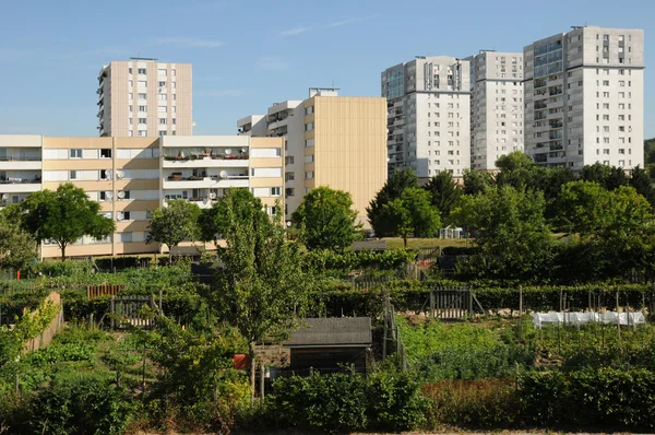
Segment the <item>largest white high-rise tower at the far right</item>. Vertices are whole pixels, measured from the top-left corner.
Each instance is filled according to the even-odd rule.
[[[643,31],[572,27],[523,52],[525,151],[537,164],[643,166]]]

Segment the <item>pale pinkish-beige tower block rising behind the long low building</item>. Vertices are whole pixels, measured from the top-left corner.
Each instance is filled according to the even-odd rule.
[[[191,136],[192,69],[130,58],[104,66],[98,74],[102,137]]]

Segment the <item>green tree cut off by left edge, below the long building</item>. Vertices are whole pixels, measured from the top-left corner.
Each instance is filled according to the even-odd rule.
[[[36,242],[3,210],[0,213],[0,268],[22,270],[35,258]]]

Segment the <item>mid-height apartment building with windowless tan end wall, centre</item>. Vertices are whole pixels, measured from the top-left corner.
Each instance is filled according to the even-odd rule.
[[[285,101],[267,114],[237,121],[240,134],[284,138],[285,216],[314,187],[352,195],[358,219],[386,181],[386,102],[338,96],[335,89],[310,89],[305,101]]]

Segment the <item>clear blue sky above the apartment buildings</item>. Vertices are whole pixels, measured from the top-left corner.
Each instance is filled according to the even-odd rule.
[[[310,86],[377,96],[416,55],[521,51],[588,24],[645,30],[651,138],[654,17],[655,0],[0,0],[0,133],[96,136],[97,72],[131,56],[193,63],[194,133],[235,134]]]

